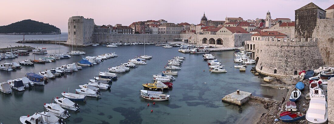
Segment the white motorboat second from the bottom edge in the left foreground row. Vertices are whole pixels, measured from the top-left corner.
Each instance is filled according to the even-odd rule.
[[[44,103],[44,109],[52,113],[53,115],[63,118],[63,119],[66,119],[67,117],[71,116],[70,114],[68,114],[67,110],[61,108],[56,103],[50,103],[50,104]]]

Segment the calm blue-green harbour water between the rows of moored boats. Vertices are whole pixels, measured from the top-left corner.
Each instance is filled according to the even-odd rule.
[[[63,35],[63,34],[62,34]],[[12,37],[12,42],[4,39]],[[0,45],[12,43],[15,45],[30,45],[33,47],[42,44],[17,44],[18,39],[13,40],[18,35],[0,35]],[[26,35],[27,37],[27,35]],[[52,40],[55,35],[34,35],[37,39]],[[26,38],[27,39],[27,38]],[[29,39],[29,38],[28,38]],[[55,39],[55,38],[53,38]],[[58,38],[59,39],[59,38]],[[61,36],[61,40],[66,40],[66,36]],[[19,39],[20,40],[20,39]],[[48,49],[48,54],[59,52],[66,53],[71,47],[59,46],[54,44],[43,44]],[[128,59],[144,53],[144,45],[119,46],[118,48],[107,48],[106,46],[88,46],[84,48],[85,56],[96,56],[103,53],[116,52],[118,57],[105,59],[102,63],[92,67],[83,67],[82,70],[72,74],[65,74],[62,78],[49,80],[43,86],[26,88],[24,92],[13,91],[10,95],[0,94],[0,122],[4,124],[18,123],[20,116],[33,114],[36,111],[43,111],[43,104],[50,103],[55,96],[68,90],[75,93],[79,89],[78,85],[86,84],[89,79],[98,75],[99,71],[107,71],[107,68],[119,66],[126,63]],[[245,72],[239,72],[234,68],[234,51],[212,52],[221,59],[227,73],[210,73],[206,62],[203,61],[201,54],[186,54],[177,51],[177,48],[162,48],[162,46],[146,45],[145,53],[152,55],[151,60],[147,60],[147,65],[138,65],[130,72],[118,74],[118,80],[113,81],[111,90],[101,90],[100,98],[88,98],[86,103],[79,103],[79,112],[70,111],[70,117],[66,123],[73,124],[170,124],[170,123],[242,123],[249,120],[249,116],[254,113],[254,107],[244,105],[242,107],[229,105],[221,102],[221,98],[235,90],[251,92],[255,96],[273,98],[273,95],[281,94],[278,89],[261,87],[263,79],[252,75],[249,65]],[[46,56],[35,54],[35,57]],[[174,88],[165,91],[171,95],[169,101],[145,100],[140,97],[139,90],[143,89],[142,84],[152,81],[152,74],[164,71],[167,60],[174,56],[184,56],[186,60],[179,70],[179,75],[173,82]],[[34,54],[29,56],[19,56],[15,59],[3,59],[0,63],[33,59]],[[79,61],[81,56],[64,58],[54,63],[35,64],[35,73],[55,68],[57,66],[70,64]],[[31,72],[31,67],[22,66],[16,71],[0,71],[0,81],[21,78],[26,72]],[[204,71],[203,71],[204,70]],[[206,83],[206,84],[204,84]],[[276,97],[276,96],[275,96]],[[150,104],[148,107],[147,104]],[[153,113],[150,111],[153,110]]]

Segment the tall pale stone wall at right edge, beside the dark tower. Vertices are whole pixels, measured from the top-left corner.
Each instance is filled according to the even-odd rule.
[[[312,38],[318,38],[318,46],[324,65],[334,66],[334,18],[317,19]]]

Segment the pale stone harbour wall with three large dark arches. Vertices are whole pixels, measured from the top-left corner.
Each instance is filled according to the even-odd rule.
[[[216,34],[180,34],[180,38],[189,39],[190,43],[217,47],[243,46],[245,40],[251,40],[251,33],[216,35]]]

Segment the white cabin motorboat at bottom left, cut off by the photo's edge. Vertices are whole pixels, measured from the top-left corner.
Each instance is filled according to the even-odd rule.
[[[56,117],[50,112],[39,112],[33,115],[21,116],[22,124],[65,124],[61,118]]]

